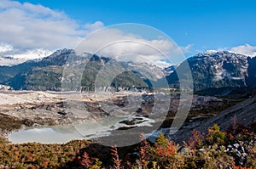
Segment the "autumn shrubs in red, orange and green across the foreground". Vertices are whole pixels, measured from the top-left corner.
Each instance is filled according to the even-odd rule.
[[[207,133],[194,131],[183,145],[163,134],[130,147],[103,147],[90,141],[68,144],[9,144],[0,140],[0,168],[256,168],[256,122],[218,125]]]

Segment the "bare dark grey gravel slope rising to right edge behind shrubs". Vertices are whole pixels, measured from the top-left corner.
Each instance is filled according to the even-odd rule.
[[[256,93],[254,89],[253,95],[244,101],[230,107],[227,110],[221,111],[218,115],[212,116],[204,121],[193,122],[192,124],[184,125],[182,129],[170,136],[172,140],[182,142],[192,136],[192,131],[207,133],[208,127],[212,124],[218,124],[222,129],[235,126],[236,124],[248,126],[256,120]],[[193,130],[192,130],[193,129]]]

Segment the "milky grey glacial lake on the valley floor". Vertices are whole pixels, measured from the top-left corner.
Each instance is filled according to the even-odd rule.
[[[124,120],[134,120],[136,125],[127,126],[119,123]],[[42,143],[42,144],[64,144],[73,139],[91,139],[110,136],[113,130],[119,127],[143,127],[151,126],[154,120],[136,116],[129,117],[108,117],[104,121],[87,122],[78,125],[53,126],[53,127],[26,127],[17,132],[9,134],[8,138],[14,144]]]

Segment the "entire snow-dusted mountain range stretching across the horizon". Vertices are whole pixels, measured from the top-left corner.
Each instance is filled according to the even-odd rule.
[[[43,59],[28,60],[19,65],[0,66],[0,84],[15,90],[61,90],[62,71],[68,58],[78,58],[73,49],[61,49]],[[80,57],[81,58],[81,57]],[[195,90],[212,87],[248,87],[256,85],[256,58],[226,51],[196,54],[178,65],[165,69],[147,63],[124,62],[84,54],[79,65],[84,65],[81,85],[94,88],[97,73],[104,65],[118,65],[121,74],[113,79],[114,87],[159,87],[167,79],[170,87],[178,88],[179,81],[185,80],[191,72]],[[1,60],[0,60],[1,61]],[[185,65],[189,65],[189,70]],[[113,65],[111,65],[113,66]],[[177,72],[183,72],[177,76]],[[73,75],[75,79],[75,75]]]

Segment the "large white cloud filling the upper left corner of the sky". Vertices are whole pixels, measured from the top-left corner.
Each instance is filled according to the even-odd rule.
[[[82,26],[64,12],[10,0],[0,0],[0,23],[2,56],[21,52],[29,56],[32,50],[74,48],[86,34],[103,26],[100,21]]]

